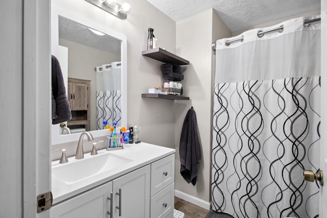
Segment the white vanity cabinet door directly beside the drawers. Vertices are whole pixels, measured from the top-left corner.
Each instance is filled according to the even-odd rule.
[[[112,182],[113,217],[150,217],[150,165],[136,169]]]

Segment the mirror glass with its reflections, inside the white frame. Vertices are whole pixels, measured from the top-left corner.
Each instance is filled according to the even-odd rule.
[[[73,134],[101,130],[103,122],[121,126],[121,40],[62,16],[58,24],[60,63],[67,65],[62,71],[67,70],[73,116],[67,127]]]

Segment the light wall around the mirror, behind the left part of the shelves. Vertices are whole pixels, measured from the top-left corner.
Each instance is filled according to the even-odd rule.
[[[162,86],[163,79],[159,61],[143,57],[147,48],[148,28],[154,29],[158,45],[175,53],[175,21],[153,7],[146,0],[124,0],[131,12],[127,19],[119,19],[84,0],[53,0],[52,4],[64,7],[85,18],[103,23],[127,36],[127,78],[128,78],[128,127],[141,127],[141,141],[160,146],[175,147],[175,103],[169,100],[142,99],[148,87]]]

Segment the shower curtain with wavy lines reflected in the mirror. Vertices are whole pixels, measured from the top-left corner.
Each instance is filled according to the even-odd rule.
[[[103,121],[109,126],[114,122],[121,126],[121,62],[97,67],[97,129],[103,129]]]

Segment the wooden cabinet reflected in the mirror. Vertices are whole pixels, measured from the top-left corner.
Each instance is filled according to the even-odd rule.
[[[90,81],[68,78],[67,97],[73,116],[68,121],[68,128],[90,131]]]

